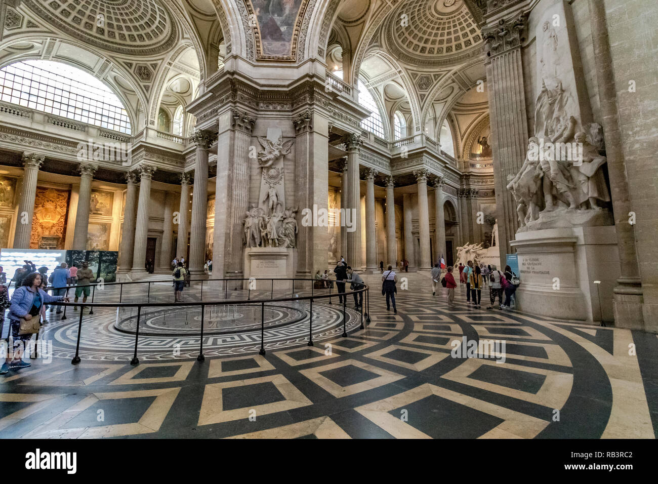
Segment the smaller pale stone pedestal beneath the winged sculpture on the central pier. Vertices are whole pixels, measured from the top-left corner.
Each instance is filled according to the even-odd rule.
[[[297,250],[284,247],[251,247],[244,252],[244,277],[249,279],[292,279],[295,277]],[[295,284],[296,285],[296,284]],[[249,281],[243,288],[249,289]],[[256,290],[272,290],[272,282],[256,281]],[[292,289],[292,281],[274,281],[274,291]],[[253,286],[252,286],[253,290]]]

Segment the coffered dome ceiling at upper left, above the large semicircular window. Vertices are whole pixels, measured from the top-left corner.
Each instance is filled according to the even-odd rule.
[[[157,55],[178,40],[170,13],[155,0],[25,0],[43,20],[101,49]]]

